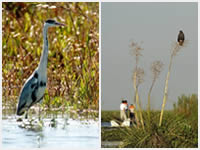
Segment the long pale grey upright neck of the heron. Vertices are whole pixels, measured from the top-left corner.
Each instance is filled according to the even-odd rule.
[[[43,73],[47,71],[47,62],[48,62],[48,26],[43,28],[43,52],[40,58],[39,70]]]

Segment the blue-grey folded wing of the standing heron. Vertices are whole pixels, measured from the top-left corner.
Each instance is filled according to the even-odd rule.
[[[31,75],[27,79],[21,90],[17,111],[20,111],[23,108],[30,107],[32,103],[31,94],[38,87],[38,79],[35,78],[33,75]]]

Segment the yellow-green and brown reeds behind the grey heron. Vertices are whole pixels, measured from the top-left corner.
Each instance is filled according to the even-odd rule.
[[[68,106],[98,110],[98,3],[4,2],[3,104],[17,103],[25,80],[36,69],[42,53],[43,23],[49,18],[66,24],[50,28],[47,108]]]

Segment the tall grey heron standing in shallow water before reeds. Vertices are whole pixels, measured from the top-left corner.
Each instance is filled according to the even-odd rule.
[[[44,92],[47,84],[47,32],[48,28],[53,26],[64,26],[64,24],[51,19],[45,21],[43,27],[43,52],[40,58],[40,63],[32,75],[26,80],[24,86],[21,89],[17,107],[17,115],[23,115],[25,111],[28,111],[31,106],[40,102],[44,97]]]

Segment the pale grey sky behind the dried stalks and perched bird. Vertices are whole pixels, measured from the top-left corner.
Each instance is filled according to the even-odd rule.
[[[152,91],[151,107],[161,109],[172,43],[183,30],[188,41],[175,57],[169,79],[166,109],[178,96],[198,93],[198,4],[197,3],[102,3],[101,5],[101,108],[119,110],[122,98],[133,103],[132,72],[135,58],[130,42],[143,42],[139,67],[145,71],[139,87],[142,107],[152,82],[151,63],[160,60],[163,70]]]

